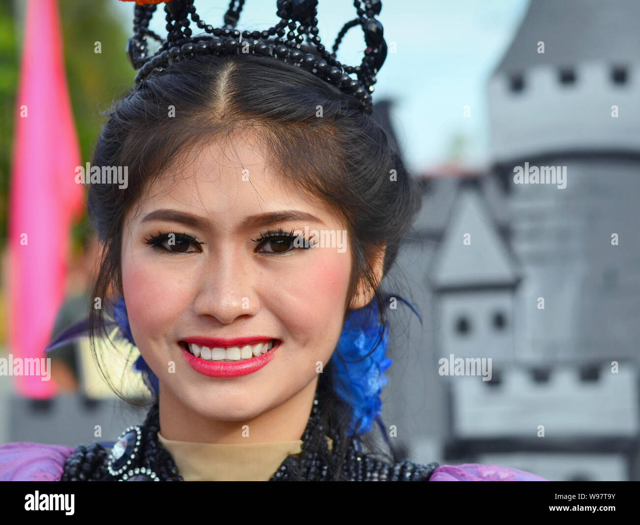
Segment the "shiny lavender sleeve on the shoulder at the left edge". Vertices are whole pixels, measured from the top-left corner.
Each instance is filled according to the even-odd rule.
[[[0,445],[0,481],[58,482],[73,451],[70,446],[22,441]]]

